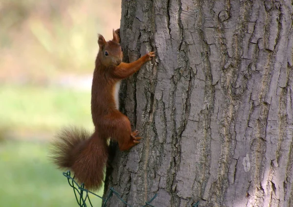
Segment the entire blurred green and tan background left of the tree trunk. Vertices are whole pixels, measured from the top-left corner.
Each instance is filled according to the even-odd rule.
[[[78,206],[48,143],[63,126],[93,129],[97,34],[111,39],[120,18],[121,0],[0,1],[0,206]]]

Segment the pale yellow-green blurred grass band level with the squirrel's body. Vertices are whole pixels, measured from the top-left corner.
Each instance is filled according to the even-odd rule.
[[[68,125],[93,128],[90,92],[4,85],[0,109],[0,127],[19,134],[54,132]]]

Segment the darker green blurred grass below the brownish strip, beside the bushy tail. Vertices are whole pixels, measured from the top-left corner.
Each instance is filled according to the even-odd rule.
[[[1,207],[78,207],[72,188],[47,152],[46,143],[0,142]],[[100,198],[91,198],[94,207],[101,206]]]

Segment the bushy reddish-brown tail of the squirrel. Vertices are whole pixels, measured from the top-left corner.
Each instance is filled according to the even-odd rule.
[[[66,128],[52,142],[51,158],[61,169],[70,169],[87,189],[102,186],[108,157],[106,139],[95,132]]]

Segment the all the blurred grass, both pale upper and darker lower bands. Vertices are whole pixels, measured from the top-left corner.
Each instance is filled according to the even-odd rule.
[[[37,135],[53,138],[68,125],[92,130],[90,92],[2,85],[0,117],[0,207],[77,207],[67,179],[49,161],[47,140]]]

